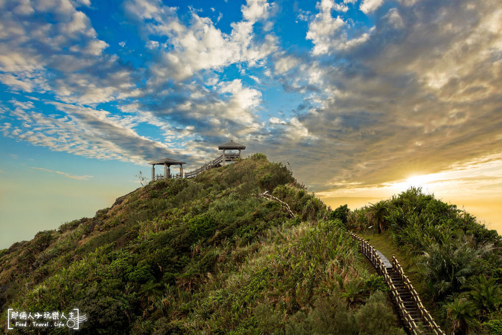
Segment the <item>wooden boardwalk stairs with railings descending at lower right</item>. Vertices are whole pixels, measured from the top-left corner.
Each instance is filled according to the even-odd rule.
[[[398,307],[399,314],[407,330],[411,334],[446,335],[437,325],[434,318],[424,307],[417,291],[410,279],[403,271],[403,267],[392,255],[392,262],[380,251],[376,250],[367,241],[354,233],[350,236],[360,242],[359,251],[366,256],[371,264],[384,276],[387,286],[391,289],[393,301]]]

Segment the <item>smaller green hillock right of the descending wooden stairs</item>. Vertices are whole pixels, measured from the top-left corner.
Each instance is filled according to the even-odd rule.
[[[502,239],[455,205],[410,188],[346,217],[348,229],[395,253],[447,333],[502,334]]]

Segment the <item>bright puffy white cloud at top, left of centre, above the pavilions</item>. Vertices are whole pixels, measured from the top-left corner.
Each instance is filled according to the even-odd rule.
[[[160,61],[150,67],[153,76],[149,83],[152,85],[171,78],[185,80],[200,70],[219,70],[235,63],[257,65],[258,61],[277,50],[277,38],[272,35],[265,36],[260,43],[254,41],[253,24],[266,17],[268,7],[263,1],[242,6],[246,21],[232,23],[230,34],[225,34],[214,26],[211,19],[200,17],[195,12],[191,13],[191,22],[187,26],[179,21],[175,9],[160,3],[147,5],[143,1],[131,0],[126,5],[130,15],[155,20],[155,23],[145,23],[147,31],[168,37],[168,43],[172,45],[168,51],[162,51]]]

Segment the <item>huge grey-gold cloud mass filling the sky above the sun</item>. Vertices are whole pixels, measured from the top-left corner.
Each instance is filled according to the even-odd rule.
[[[319,141],[296,161],[284,159],[305,176],[311,156],[312,164],[332,166],[312,177],[314,188],[378,186],[500,151],[499,2],[407,6],[374,12],[377,24],[366,32],[347,26],[332,35],[334,62],[306,58],[309,65],[280,77],[291,91],[306,92],[297,131]],[[287,143],[285,126],[274,127],[271,136]]]

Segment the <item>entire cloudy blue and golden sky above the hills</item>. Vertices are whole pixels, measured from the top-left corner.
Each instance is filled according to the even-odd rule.
[[[502,3],[0,0],[0,249],[229,140],[332,207],[421,186],[502,232]]]

